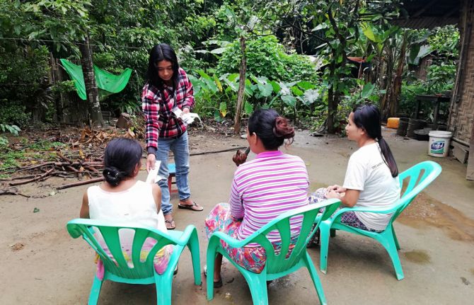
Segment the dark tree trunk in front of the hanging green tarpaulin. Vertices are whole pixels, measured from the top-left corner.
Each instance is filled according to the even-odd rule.
[[[101,127],[104,125],[104,121],[100,112],[99,91],[96,84],[96,74],[94,73],[88,36],[86,36],[86,40],[83,43],[79,44],[79,50],[81,51],[82,73],[84,75],[84,84],[86,85],[89,124]]]

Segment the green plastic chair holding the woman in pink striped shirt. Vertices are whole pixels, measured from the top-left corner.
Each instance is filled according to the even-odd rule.
[[[313,228],[314,219],[318,214],[321,207],[326,207],[321,220],[327,219],[340,205],[340,200],[331,199],[320,202],[316,205],[308,205],[306,207],[300,207],[293,211],[286,212],[276,219],[273,219],[268,224],[263,226],[260,230],[255,231],[254,234],[248,236],[244,240],[239,241],[236,238],[224,234],[223,232],[214,232],[211,238],[209,238],[209,246],[207,247],[207,299],[210,301],[214,298],[214,260],[217,253],[224,255],[236,268],[242,273],[245,280],[248,282],[250,287],[250,293],[252,294],[253,304],[268,304],[267,295],[267,281],[277,279],[289,275],[291,272],[295,272],[301,267],[306,267],[311,279],[313,280],[314,287],[318,293],[320,304],[326,304],[324,297],[323,286],[319,280],[316,268],[313,265],[308,252],[306,251],[306,244],[315,234],[319,223]],[[301,225],[301,231],[299,232],[299,238],[296,241],[296,245],[291,251],[291,255],[287,258],[290,244],[290,225],[289,221],[291,217],[296,215],[303,215],[303,223]],[[282,248],[279,254],[274,253],[272,243],[268,240],[266,235],[273,230],[279,231],[279,235],[282,238]],[[234,248],[242,248],[249,243],[258,243],[267,253],[267,262],[261,273],[251,272],[241,267],[226,253],[222,248],[220,241],[223,240]]]

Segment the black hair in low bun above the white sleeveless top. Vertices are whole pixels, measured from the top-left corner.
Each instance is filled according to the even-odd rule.
[[[141,159],[141,145],[134,139],[112,139],[104,153],[105,181],[117,186],[124,178],[132,178],[135,166]]]

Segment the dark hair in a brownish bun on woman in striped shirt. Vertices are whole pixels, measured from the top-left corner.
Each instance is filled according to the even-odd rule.
[[[284,139],[293,142],[294,128],[288,125],[289,120],[280,117],[276,110],[260,109],[248,119],[248,133],[258,135],[267,150],[276,150],[282,146]]]

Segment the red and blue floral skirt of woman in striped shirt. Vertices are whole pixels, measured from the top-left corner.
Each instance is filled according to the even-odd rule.
[[[219,203],[212,209],[204,220],[207,238],[210,238],[214,232],[221,231],[225,234],[236,238],[236,231],[241,226],[242,221],[236,220],[231,215],[230,205],[228,203]],[[296,239],[296,238],[295,238]],[[294,248],[294,240],[291,241],[290,250],[287,257],[291,254],[291,249]],[[241,267],[251,272],[260,273],[265,268],[267,255],[265,248],[257,247],[243,247],[233,248],[226,242],[221,241],[221,245],[231,259]],[[282,243],[272,243],[275,253],[281,249]]]

